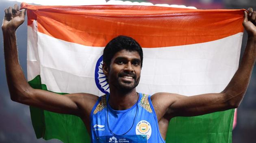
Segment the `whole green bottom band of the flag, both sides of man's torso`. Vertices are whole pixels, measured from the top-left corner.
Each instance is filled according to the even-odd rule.
[[[41,84],[40,76],[28,83],[33,88],[47,90],[46,85]],[[57,114],[35,107],[30,107],[30,114],[37,138],[59,139],[64,143],[91,142],[85,125],[79,117]],[[168,127],[166,142],[232,143],[233,118],[234,109],[203,116],[173,118]]]

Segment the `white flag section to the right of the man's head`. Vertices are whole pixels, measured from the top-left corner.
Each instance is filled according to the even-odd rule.
[[[200,44],[143,48],[137,90],[188,96],[221,92],[238,68],[242,37],[239,33]]]

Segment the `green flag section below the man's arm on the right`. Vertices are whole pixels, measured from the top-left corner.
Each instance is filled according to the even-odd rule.
[[[234,109],[171,119],[167,143],[232,143]]]

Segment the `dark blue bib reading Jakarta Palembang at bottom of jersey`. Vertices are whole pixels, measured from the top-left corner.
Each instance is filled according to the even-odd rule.
[[[112,135],[100,136],[93,143],[148,143],[147,135]]]

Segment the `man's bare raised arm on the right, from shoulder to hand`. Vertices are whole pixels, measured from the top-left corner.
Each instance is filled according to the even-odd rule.
[[[228,86],[221,93],[209,93],[191,97],[171,93],[156,93],[152,103],[158,121],[175,116],[197,116],[215,111],[223,111],[239,106],[252,74],[256,61],[256,12],[252,8],[245,12],[243,26],[248,33],[247,45],[241,64]]]

